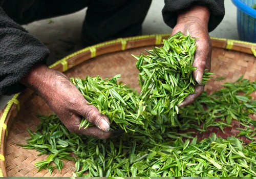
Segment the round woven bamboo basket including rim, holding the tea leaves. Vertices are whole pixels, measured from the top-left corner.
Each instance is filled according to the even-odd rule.
[[[161,46],[162,39],[170,34],[145,35],[131,38],[120,38],[95,46],[88,47],[61,59],[50,68],[65,73],[68,77],[84,78],[89,75],[101,78],[111,78],[121,74],[124,84],[140,90],[136,59],[131,56],[145,53],[144,49],[152,46]],[[211,38],[212,62],[211,72],[215,75],[205,86],[208,94],[221,88],[225,82],[234,82],[241,75],[250,81],[256,80],[256,44],[229,39]],[[214,81],[215,78],[226,77],[225,80]],[[254,99],[255,94],[254,94]],[[48,170],[37,172],[35,163],[47,159],[46,155],[37,156],[36,150],[23,149],[16,144],[26,144],[29,133],[26,128],[35,130],[40,120],[36,114],[52,114],[49,106],[30,89],[16,94],[4,109],[0,111],[0,176],[72,176],[75,164],[72,161],[63,161],[62,172]],[[255,119],[255,116],[254,116]],[[218,128],[208,128],[207,132],[196,133],[199,139],[208,138],[212,132],[217,136],[227,138],[236,136],[237,127],[243,128],[238,121],[232,122],[233,127],[225,128],[222,133]],[[245,142],[250,142],[242,138]]]

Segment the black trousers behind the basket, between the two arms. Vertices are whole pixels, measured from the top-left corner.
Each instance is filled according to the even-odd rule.
[[[105,0],[101,1],[94,0],[88,6],[82,27],[84,46],[91,46],[120,37],[140,35],[141,25],[152,0],[117,0],[119,3],[108,8],[105,8]],[[112,0],[111,2],[115,1]]]

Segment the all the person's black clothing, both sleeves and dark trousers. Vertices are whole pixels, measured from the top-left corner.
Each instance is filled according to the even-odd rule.
[[[82,28],[82,42],[91,46],[106,40],[138,35],[151,1],[0,0],[0,95],[22,91],[25,86],[18,81],[35,63],[46,62],[49,56],[49,50],[44,44],[19,24],[65,15],[88,7]],[[209,31],[214,30],[224,17],[224,0],[165,0],[162,11],[165,23],[173,28],[177,12],[195,4],[206,5],[211,10],[208,26]]]

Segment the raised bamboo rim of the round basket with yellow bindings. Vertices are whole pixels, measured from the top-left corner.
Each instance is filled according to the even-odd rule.
[[[233,0],[232,0],[233,1]],[[144,46],[151,46],[151,45],[158,45],[161,44],[162,39],[167,39],[170,36],[168,34],[152,34],[152,35],[142,35],[142,36],[134,36],[134,37],[127,37],[127,38],[118,38],[111,41],[106,41],[103,43],[95,44],[94,46],[90,46],[79,50],[75,53],[72,53],[65,58],[55,62],[54,64],[50,65],[49,68],[65,72],[71,69],[73,66],[89,60],[91,58],[96,57],[97,55],[108,54],[111,52],[118,52],[124,51],[128,49],[134,49],[138,47]],[[210,37],[212,42],[212,47],[227,49],[227,50],[234,50],[239,52],[244,52],[248,54],[253,54],[256,57],[256,43],[245,42],[240,40],[231,40],[226,38],[217,38],[217,37]],[[146,43],[145,43],[146,42]],[[114,48],[109,49],[109,48]],[[108,49],[110,51],[100,52],[102,49]],[[97,54],[97,52],[99,54]],[[78,55],[84,55],[86,58],[83,61],[74,62],[75,57]],[[6,138],[8,136],[8,126],[10,126],[11,122],[8,123],[9,119],[11,118],[11,113],[13,111],[19,110],[20,100],[19,96],[20,93],[15,94],[14,97],[7,103],[7,105],[0,111],[0,177],[7,177],[6,172],[6,165],[5,165],[5,144]],[[20,97],[21,98],[21,97]],[[16,115],[15,115],[16,116]],[[13,116],[13,118],[15,117]]]

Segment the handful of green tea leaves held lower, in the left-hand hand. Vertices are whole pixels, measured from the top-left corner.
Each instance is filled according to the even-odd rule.
[[[99,76],[84,80],[71,78],[71,82],[79,89],[84,98],[90,104],[96,106],[100,113],[108,116],[112,129],[122,128],[132,130],[126,125],[144,125],[145,106],[142,100],[132,88],[117,84],[120,75],[112,79],[102,79]],[[82,119],[80,127],[92,125],[86,119]]]

